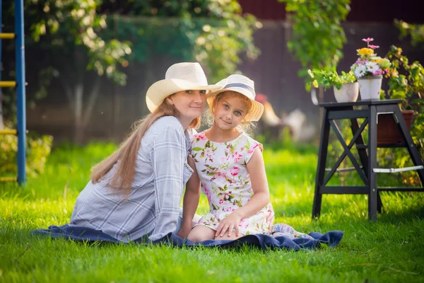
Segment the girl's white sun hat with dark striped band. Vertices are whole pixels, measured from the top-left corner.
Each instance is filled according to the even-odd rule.
[[[246,96],[252,101],[252,109],[247,112],[245,117],[246,121],[258,121],[264,113],[264,105],[254,100],[256,93],[254,92],[254,81],[249,79],[247,76],[242,75],[230,75],[227,79],[223,79],[217,83],[218,86],[223,88],[208,95],[207,101],[209,108],[212,109],[213,100],[216,95],[223,93],[224,91],[235,91],[237,93]]]

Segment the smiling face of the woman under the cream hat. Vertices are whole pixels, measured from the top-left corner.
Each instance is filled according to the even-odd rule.
[[[179,118],[192,120],[200,117],[206,106],[206,91],[179,91],[167,98],[179,112]]]

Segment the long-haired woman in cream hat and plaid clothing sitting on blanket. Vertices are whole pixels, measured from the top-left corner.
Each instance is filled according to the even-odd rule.
[[[189,140],[206,105],[208,86],[199,63],[172,65],[146,93],[151,111],[117,151],[93,167],[76,199],[71,226],[101,230],[120,241],[177,232],[183,186],[192,175]],[[199,180],[193,180],[199,183]],[[190,224],[182,224],[187,236]]]

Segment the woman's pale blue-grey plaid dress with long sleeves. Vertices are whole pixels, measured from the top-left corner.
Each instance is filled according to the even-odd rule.
[[[193,173],[187,163],[192,134],[184,132],[176,117],[158,119],[141,140],[129,196],[108,185],[115,164],[103,180],[88,182],[78,195],[70,225],[100,230],[124,242],[144,235],[155,241],[175,232],[183,187]]]

